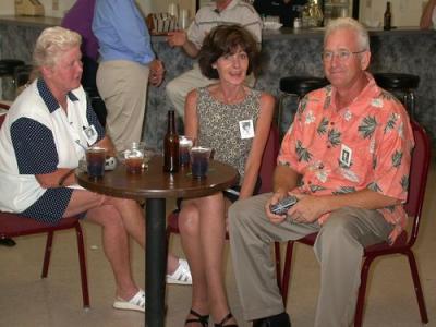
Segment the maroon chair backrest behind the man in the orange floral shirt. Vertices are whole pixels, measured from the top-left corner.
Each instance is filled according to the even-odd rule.
[[[415,121],[411,121],[415,147],[412,154],[412,161],[409,174],[409,194],[404,209],[413,218],[413,227],[410,245],[416,240],[420,228],[421,213],[424,203],[425,186],[431,161],[431,144],[425,130]]]

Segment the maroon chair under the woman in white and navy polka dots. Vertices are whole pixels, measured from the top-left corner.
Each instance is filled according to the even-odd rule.
[[[3,123],[3,120],[4,120],[4,114],[0,116],[0,126]],[[23,217],[17,214],[0,211],[0,239],[47,233],[41,278],[46,278],[48,274],[53,233],[56,231],[64,229],[75,229],[76,232],[78,263],[81,268],[81,280],[82,280],[83,306],[87,308],[89,307],[89,292],[88,292],[88,281],[86,274],[86,264],[85,264],[85,247],[83,243],[82,228],[78,219],[76,217],[69,217],[61,219],[58,225],[49,225],[49,223],[38,222],[34,219]]]

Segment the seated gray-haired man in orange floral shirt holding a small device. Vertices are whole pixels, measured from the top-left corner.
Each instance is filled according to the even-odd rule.
[[[315,326],[346,327],[354,317],[364,246],[393,242],[407,223],[414,145],[408,113],[365,72],[367,32],[352,19],[326,28],[323,63],[331,85],[300,104],[281,145],[274,194],[237,202],[229,211],[234,272],[244,318],[290,326],[269,244],[318,232],[320,264]],[[269,206],[295,195],[287,215]]]

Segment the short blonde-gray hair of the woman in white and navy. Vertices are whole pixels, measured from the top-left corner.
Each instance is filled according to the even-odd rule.
[[[36,40],[33,55],[35,66],[56,64],[60,55],[74,47],[80,47],[82,37],[80,34],[60,27],[48,27],[43,31]]]

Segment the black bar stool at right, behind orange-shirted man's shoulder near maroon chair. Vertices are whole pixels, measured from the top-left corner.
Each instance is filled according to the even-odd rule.
[[[420,76],[401,73],[375,73],[377,85],[392,92],[404,105],[411,118],[415,118],[415,94]]]

